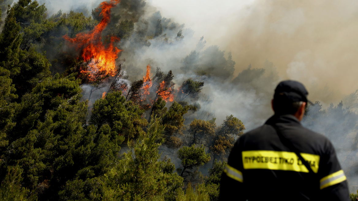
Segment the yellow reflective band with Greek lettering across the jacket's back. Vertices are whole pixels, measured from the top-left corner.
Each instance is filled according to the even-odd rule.
[[[313,172],[319,168],[319,155],[300,153],[309,163]],[[242,152],[242,164],[246,169],[285,170],[295,172],[309,172],[295,152],[252,150]]]

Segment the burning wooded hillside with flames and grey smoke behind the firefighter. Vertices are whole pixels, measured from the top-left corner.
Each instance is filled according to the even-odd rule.
[[[0,200],[218,199],[236,139],[271,112],[271,62],[234,76],[231,53],[204,37],[180,51],[192,30],[142,0],[52,15],[32,0],[0,6]],[[252,121],[217,119],[228,95],[257,99]],[[337,138],[353,189],[357,97],[317,101],[303,121]]]

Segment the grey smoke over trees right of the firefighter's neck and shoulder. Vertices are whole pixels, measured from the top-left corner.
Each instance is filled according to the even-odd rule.
[[[358,91],[342,102],[322,108],[318,102],[310,106],[303,125],[328,137],[335,147],[338,160],[348,178],[351,192],[358,188]]]

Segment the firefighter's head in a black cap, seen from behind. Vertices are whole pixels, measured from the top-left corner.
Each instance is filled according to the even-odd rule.
[[[307,105],[308,92],[303,84],[285,80],[280,82],[272,100],[272,109],[276,115],[292,114],[301,121]]]

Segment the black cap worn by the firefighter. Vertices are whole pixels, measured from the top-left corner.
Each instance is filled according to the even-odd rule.
[[[290,102],[310,102],[307,100],[308,92],[305,86],[297,81],[285,80],[280,82],[274,94],[274,99],[285,99]]]

